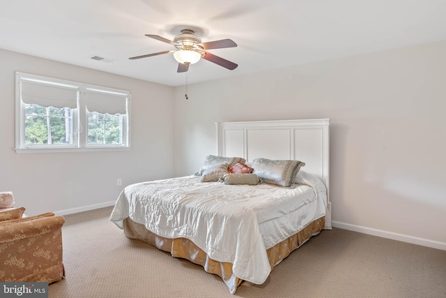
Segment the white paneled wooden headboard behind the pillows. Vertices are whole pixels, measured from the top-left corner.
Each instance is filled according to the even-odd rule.
[[[301,170],[315,174],[327,187],[328,218],[331,223],[330,119],[220,122],[217,126],[219,156],[297,159]],[[331,226],[330,226],[331,228]]]

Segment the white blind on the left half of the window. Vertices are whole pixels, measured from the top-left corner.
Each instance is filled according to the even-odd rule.
[[[77,87],[22,80],[22,101],[42,107],[77,107]]]

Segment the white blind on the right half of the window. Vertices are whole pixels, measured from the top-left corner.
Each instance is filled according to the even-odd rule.
[[[126,114],[127,96],[86,89],[86,108],[89,112],[101,114]]]

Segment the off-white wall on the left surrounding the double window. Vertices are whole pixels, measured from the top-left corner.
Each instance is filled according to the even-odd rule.
[[[172,87],[6,50],[0,65],[0,191],[13,191],[26,214],[104,207],[125,185],[172,176]],[[131,150],[16,154],[15,71],[132,91]]]

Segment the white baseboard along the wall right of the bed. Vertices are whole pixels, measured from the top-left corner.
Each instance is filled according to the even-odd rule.
[[[367,228],[362,227],[360,225],[351,225],[350,223],[341,223],[339,221],[332,221],[332,226],[334,228],[349,230],[353,232],[360,232],[363,234],[369,234],[373,236],[383,237],[387,239],[397,240],[397,241],[403,241],[410,244],[417,244],[422,246],[427,246],[431,248],[441,249],[442,251],[446,251],[446,243],[440,242],[440,241],[433,241],[429,239],[419,238],[419,237],[413,237],[408,236],[405,234],[399,234],[394,232],[388,232],[384,230],[377,230],[374,228]]]

